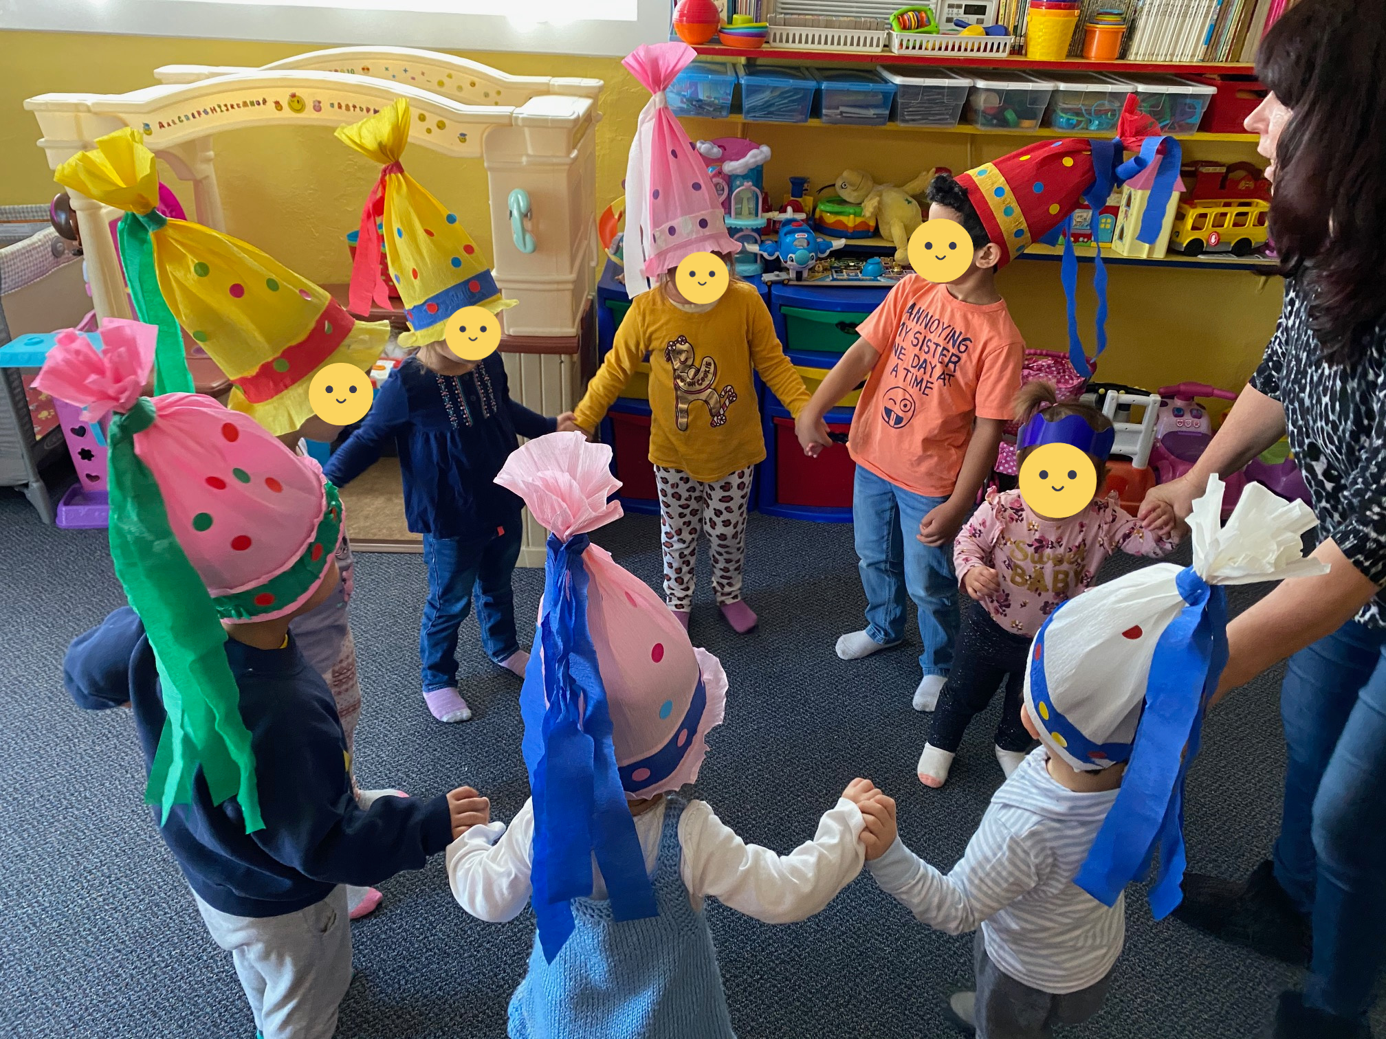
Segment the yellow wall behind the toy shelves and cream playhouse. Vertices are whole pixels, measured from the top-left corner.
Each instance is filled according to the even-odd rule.
[[[123,93],[154,83],[168,64],[263,65],[306,50],[298,44],[238,40],[116,37],[83,33],[0,32],[6,76],[0,80],[0,204],[46,202],[57,191],[37,123],[24,98],[46,91]],[[615,58],[453,51],[518,75],[592,76],[606,82],[597,126],[597,208],[621,194],[635,121],[649,97]],[[765,186],[773,201],[789,176],[827,183],[844,165],[880,180],[904,183],[930,166],[955,170],[994,158],[1023,139],[983,140],[965,134],[847,127],[747,127],[769,144]],[[733,132],[725,123],[687,121],[697,136]],[[974,151],[969,155],[969,141]],[[317,281],[345,281],[349,259],[342,236],[360,219],[360,205],[378,172],[326,129],[236,130],[216,139],[218,177],[227,230]],[[1186,157],[1254,159],[1249,144],[1186,145]],[[489,248],[485,175],[480,162],[456,162],[426,148],[406,155],[409,170],[463,215],[478,244]],[[165,170],[168,173],[168,170]],[[191,209],[191,193],[173,183]],[[1091,265],[1082,267],[1091,284]],[[1100,377],[1150,388],[1198,380],[1238,388],[1254,368],[1279,312],[1279,280],[1238,272],[1109,267],[1110,346]],[[1001,288],[1033,346],[1064,349],[1066,319],[1056,263],[1020,262]],[[1092,299],[1084,290],[1080,320],[1091,350]]]

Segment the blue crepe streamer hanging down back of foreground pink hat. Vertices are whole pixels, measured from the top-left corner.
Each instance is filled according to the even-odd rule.
[[[534,803],[531,903],[550,963],[572,934],[570,900],[592,895],[593,855],[615,920],[658,916],[621,787],[606,686],[588,630],[582,564],[588,544],[586,535],[567,542],[549,535],[538,646],[520,695]]]

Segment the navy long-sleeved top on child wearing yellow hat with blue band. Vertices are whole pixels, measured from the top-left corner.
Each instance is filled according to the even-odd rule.
[[[475,540],[520,522],[520,499],[495,483],[520,436],[556,423],[510,399],[506,366],[492,353],[466,375],[439,375],[409,357],[376,393],[366,420],[327,463],[337,486],[365,472],[394,439],[414,533]]]

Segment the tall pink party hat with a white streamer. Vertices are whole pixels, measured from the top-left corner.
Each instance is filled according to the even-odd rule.
[[[640,112],[626,168],[626,227],[638,229],[640,272],[654,277],[694,252],[740,251],[722,223],[707,166],[669,111],[664,91],[697,51],[686,43],[636,47],[621,62],[653,94]],[[632,236],[628,236],[632,237]],[[631,256],[631,242],[626,244]]]

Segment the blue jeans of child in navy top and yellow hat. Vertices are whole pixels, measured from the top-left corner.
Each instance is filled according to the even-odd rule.
[[[424,693],[457,684],[457,629],[467,619],[473,596],[481,646],[496,664],[520,650],[516,639],[514,592],[510,574],[520,558],[521,521],[506,524],[491,539],[459,540],[424,535],[428,601],[419,629]]]

